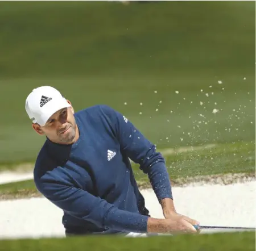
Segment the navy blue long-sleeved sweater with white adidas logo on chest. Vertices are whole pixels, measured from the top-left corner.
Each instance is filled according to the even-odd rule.
[[[80,133],[76,143],[46,139],[40,150],[34,169],[37,189],[63,210],[67,232],[146,232],[149,214],[130,160],[148,175],[160,201],[172,198],[164,158],[109,106],[86,108],[75,119]]]

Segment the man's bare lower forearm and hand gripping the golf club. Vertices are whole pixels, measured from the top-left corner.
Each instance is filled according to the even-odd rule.
[[[148,233],[199,233],[185,216],[176,214],[167,219],[149,217],[147,222]]]

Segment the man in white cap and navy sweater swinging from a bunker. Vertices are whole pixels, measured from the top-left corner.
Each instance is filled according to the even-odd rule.
[[[75,113],[51,86],[34,89],[25,107],[46,136],[35,185],[63,210],[66,236],[197,232],[199,222],[175,211],[164,158],[125,116],[106,105]],[[148,175],[165,219],[149,215],[129,158]]]

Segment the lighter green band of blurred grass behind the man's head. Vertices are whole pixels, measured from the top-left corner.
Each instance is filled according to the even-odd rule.
[[[205,76],[205,73],[202,74]],[[98,103],[109,104],[125,114],[159,148],[255,140],[255,91],[251,85],[253,77],[247,82],[243,80],[243,75],[233,79],[226,77],[224,83],[218,85],[218,78],[212,76],[203,79],[202,74],[190,79],[182,76],[147,76],[128,79],[0,81],[0,85],[6,83],[3,102],[9,100],[9,109],[13,111],[5,113],[5,119],[0,125],[0,162],[35,161],[44,137],[32,130],[24,112],[23,101],[33,86],[45,83],[53,83],[63,91],[75,110]],[[16,97],[12,95],[13,88],[18,89],[20,84],[24,88]],[[72,92],[69,91],[71,85],[75,87]],[[122,85],[122,90],[119,85]],[[144,90],[143,85],[147,85]],[[201,93],[201,89],[204,93]],[[154,90],[158,93],[155,94]],[[179,90],[179,94],[175,93],[176,90]],[[209,97],[205,93],[209,93]],[[204,104],[201,106],[200,102]],[[219,110],[216,114],[212,113],[214,108]]]

